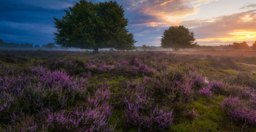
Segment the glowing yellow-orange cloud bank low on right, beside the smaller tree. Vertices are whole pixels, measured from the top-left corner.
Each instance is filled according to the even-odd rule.
[[[256,39],[256,10],[179,24],[193,27],[197,41],[252,41]]]

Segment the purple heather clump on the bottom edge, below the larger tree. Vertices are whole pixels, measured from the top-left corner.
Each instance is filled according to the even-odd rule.
[[[109,117],[89,107],[86,110],[49,114],[45,128],[67,132],[113,132],[115,126],[108,125]]]

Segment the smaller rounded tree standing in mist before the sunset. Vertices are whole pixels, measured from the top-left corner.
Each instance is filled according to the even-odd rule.
[[[194,42],[194,32],[184,26],[171,26],[164,31],[161,38],[162,48],[172,48],[177,51],[179,49],[193,48],[197,43]]]

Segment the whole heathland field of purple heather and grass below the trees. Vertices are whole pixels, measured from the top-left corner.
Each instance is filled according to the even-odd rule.
[[[255,132],[253,51],[0,51],[0,131]]]

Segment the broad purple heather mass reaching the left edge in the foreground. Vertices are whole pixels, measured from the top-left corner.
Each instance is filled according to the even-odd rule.
[[[29,67],[28,74],[0,77],[0,117],[13,111],[38,112],[44,108],[65,108],[87,96],[88,79]]]

